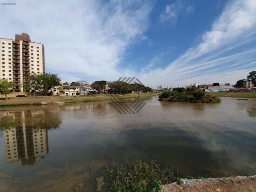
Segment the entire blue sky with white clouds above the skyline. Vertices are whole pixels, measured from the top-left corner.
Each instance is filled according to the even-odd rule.
[[[256,70],[256,0],[10,3],[0,5],[0,38],[28,33],[44,44],[46,72],[63,82],[234,85]]]

